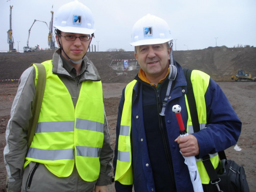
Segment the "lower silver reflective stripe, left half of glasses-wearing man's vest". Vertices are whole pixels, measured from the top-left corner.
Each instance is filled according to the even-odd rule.
[[[40,150],[38,148],[29,148],[27,157],[49,161],[74,159],[74,149],[68,148],[66,150]]]

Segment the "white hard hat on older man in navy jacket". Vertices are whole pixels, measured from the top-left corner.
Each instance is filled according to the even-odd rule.
[[[172,40],[168,24],[162,18],[147,14],[133,26],[132,46],[163,44]]]

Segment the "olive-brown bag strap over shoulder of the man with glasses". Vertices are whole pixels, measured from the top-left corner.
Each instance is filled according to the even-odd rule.
[[[37,84],[35,87],[35,100],[32,106],[32,118],[29,121],[28,134],[27,134],[28,150],[35,134],[36,124],[38,122],[38,118],[41,110],[42,98],[44,97],[45,86],[46,86],[45,66],[42,65],[41,63],[32,63],[30,66],[32,66],[33,64],[35,64],[38,69],[38,76],[37,76]]]

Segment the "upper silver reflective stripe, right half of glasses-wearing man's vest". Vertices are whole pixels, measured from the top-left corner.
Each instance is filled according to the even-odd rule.
[[[84,119],[76,119],[76,128],[82,130],[96,131],[103,133],[104,124]]]

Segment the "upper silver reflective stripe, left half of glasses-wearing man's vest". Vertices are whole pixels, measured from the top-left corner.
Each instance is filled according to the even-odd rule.
[[[74,131],[74,121],[39,122],[35,133],[71,132]]]

